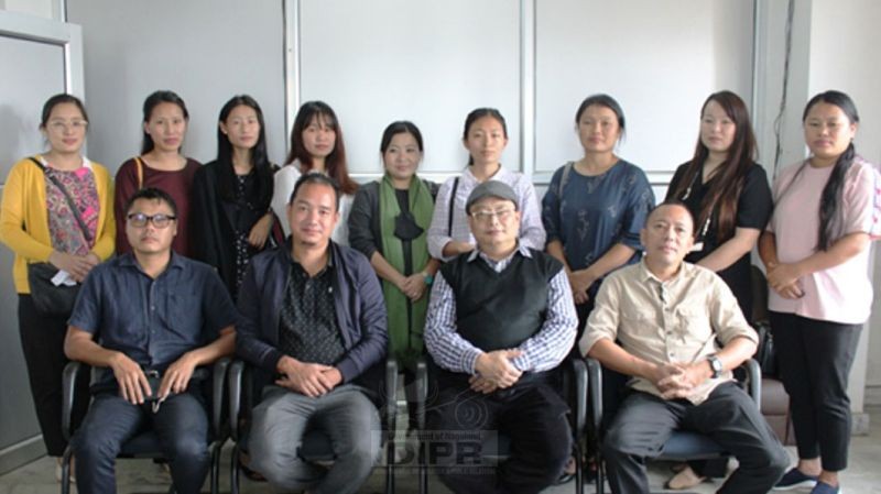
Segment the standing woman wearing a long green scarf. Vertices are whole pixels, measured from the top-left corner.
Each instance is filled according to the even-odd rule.
[[[389,314],[389,348],[404,373],[409,436],[417,428],[415,369],[424,354],[428,290],[439,266],[428,255],[427,231],[437,184],[416,175],[423,156],[420,129],[392,122],[382,133],[383,177],[363,185],[349,215],[349,242],[382,279]]]

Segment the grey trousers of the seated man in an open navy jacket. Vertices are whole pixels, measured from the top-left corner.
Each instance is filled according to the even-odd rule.
[[[336,461],[327,470],[303,461],[297,451],[307,430],[331,439]],[[373,469],[381,446],[379,413],[361,387],[345,384],[311,398],[268,386],[253,410],[249,436],[251,468],[273,485],[313,494],[355,493]]]

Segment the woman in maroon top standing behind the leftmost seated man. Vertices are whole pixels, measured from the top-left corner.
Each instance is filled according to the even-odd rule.
[[[184,100],[173,91],[160,90],[148,96],[143,106],[141,154],[126,161],[117,171],[113,208],[117,219],[117,252],[131,250],[126,238],[126,204],[144,187],[168,193],[177,204],[177,235],[172,249],[191,256],[189,195],[199,162],[181,154],[189,112]]]

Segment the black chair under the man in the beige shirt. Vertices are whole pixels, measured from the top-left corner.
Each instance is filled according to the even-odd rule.
[[[606,473],[600,455],[603,431],[603,404],[602,404],[602,365],[595,359],[587,359],[587,372],[590,396],[590,425],[594,430],[595,451],[597,452],[597,494],[605,492]],[[750,359],[735,372],[741,386],[761,409],[762,372],[759,363]],[[617,407],[616,407],[617,408]],[[609,417],[611,418],[611,416]],[[728,453],[718,442],[698,432],[676,430],[664,443],[663,453],[657,460],[685,462],[690,460],[713,460],[728,458]]]

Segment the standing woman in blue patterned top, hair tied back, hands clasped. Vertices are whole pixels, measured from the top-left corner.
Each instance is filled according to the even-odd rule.
[[[639,260],[640,230],[654,207],[645,173],[614,149],[624,135],[624,112],[611,96],[594,95],[575,112],[584,157],[557,168],[542,199],[547,253],[569,276],[578,311],[578,338],[603,277]]]

